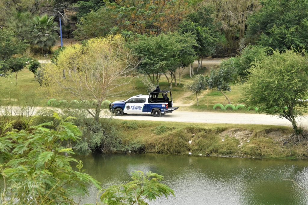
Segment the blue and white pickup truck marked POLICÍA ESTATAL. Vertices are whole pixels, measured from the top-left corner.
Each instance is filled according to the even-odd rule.
[[[169,90],[161,90],[157,93],[149,93],[149,95],[140,94],[125,101],[114,101],[109,104],[109,111],[115,113],[116,116],[127,113],[149,113],[154,117],[160,117],[161,114],[173,112],[178,108],[173,107],[172,95]]]

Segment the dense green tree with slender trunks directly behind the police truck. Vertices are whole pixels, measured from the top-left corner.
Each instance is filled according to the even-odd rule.
[[[138,39],[128,46],[140,60],[137,67],[140,73],[147,74],[153,84],[155,80],[158,84],[161,74],[164,74],[172,88],[176,70],[193,62],[195,52],[192,46],[195,44],[190,34],[169,32],[158,36],[138,35]]]

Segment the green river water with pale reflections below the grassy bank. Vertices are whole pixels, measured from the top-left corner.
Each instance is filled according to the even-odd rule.
[[[251,160],[161,154],[80,157],[86,172],[106,188],[127,183],[133,171],[152,171],[176,197],[162,197],[150,204],[307,204],[308,196],[290,181],[308,188],[306,160]],[[95,203],[97,190],[81,203]],[[76,197],[79,201],[79,197]]]

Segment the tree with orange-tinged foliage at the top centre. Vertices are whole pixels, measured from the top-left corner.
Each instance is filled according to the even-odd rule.
[[[174,31],[178,23],[188,13],[189,1],[186,0],[119,0],[106,2],[111,18],[116,19],[112,32],[131,34],[158,35]]]

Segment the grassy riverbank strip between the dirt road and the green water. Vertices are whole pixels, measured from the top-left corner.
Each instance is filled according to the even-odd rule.
[[[9,117],[9,119],[13,120],[16,117]],[[34,119],[33,124],[37,125],[51,120],[53,120],[52,117],[40,116]],[[76,120],[75,123],[80,126],[79,119],[76,118]],[[25,122],[26,120],[17,119],[14,122],[14,128],[23,129]],[[91,129],[95,129],[96,126],[88,128],[81,136],[82,142],[88,142],[87,146],[92,151],[94,148],[105,153],[145,152],[260,159],[308,158],[307,144],[288,143],[287,139],[293,133],[293,129],[286,126],[137,121],[111,118],[102,118],[100,123],[102,124],[101,129],[107,133],[99,138],[99,142],[95,142],[95,146],[93,146],[93,141],[98,140],[97,133]],[[54,121],[53,124],[57,122]],[[80,129],[84,130],[84,125]],[[103,139],[105,141],[101,141]]]

